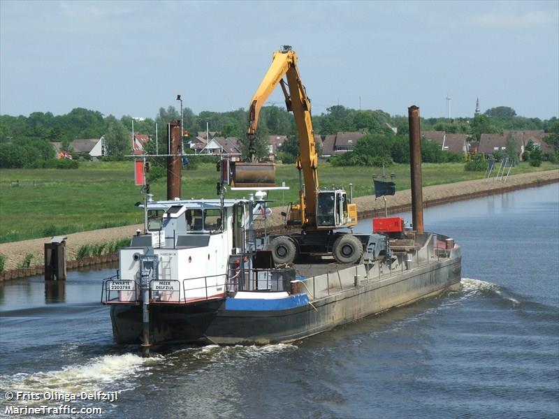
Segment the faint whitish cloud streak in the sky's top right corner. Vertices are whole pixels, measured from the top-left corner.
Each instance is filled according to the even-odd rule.
[[[472,24],[484,28],[531,29],[559,24],[558,10],[531,11],[523,15],[510,13],[484,13],[472,17]]]

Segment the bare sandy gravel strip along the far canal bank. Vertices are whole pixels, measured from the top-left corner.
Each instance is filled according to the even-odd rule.
[[[453,184],[424,186],[423,202],[424,205],[428,207],[455,200],[487,196],[494,193],[541,186],[553,182],[559,182],[559,170],[512,175],[507,179],[507,182],[501,182],[495,179],[490,179],[489,182],[487,182],[486,179],[477,179]],[[411,207],[411,191],[409,191],[409,189],[406,191],[398,191],[395,196],[389,197],[388,200],[389,211],[405,211]],[[375,200],[375,196],[354,198],[354,203],[357,203],[359,216],[361,218],[384,213],[384,200]],[[282,230],[283,217],[280,212],[281,210],[279,210],[279,208],[275,209],[273,214],[266,220],[266,229],[268,231]],[[264,227],[265,224],[263,221],[256,222],[256,228],[263,229]],[[102,230],[68,234],[68,239],[66,240],[66,254],[68,260],[74,260],[78,249],[84,244],[108,243],[122,239],[123,237],[131,237],[138,228],[140,230],[143,229],[143,225],[136,224],[133,226],[103,228]],[[4,270],[14,270],[28,253],[34,255],[32,261],[35,264],[43,263],[44,244],[48,242],[50,242],[50,237],[0,244],[0,253],[6,255],[7,258]]]

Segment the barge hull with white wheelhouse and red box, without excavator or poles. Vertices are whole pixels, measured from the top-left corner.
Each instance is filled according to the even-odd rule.
[[[275,344],[440,294],[460,281],[460,247],[398,217],[352,233],[358,263],[326,256],[275,265],[254,234],[256,200],[145,203],[145,231],[103,281],[118,344]],[[373,229],[372,229],[373,230]],[[333,232],[331,245],[338,235]]]

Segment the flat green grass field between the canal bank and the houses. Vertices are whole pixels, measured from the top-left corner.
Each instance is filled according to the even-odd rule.
[[[544,162],[539,168],[521,163],[511,174],[557,168]],[[386,174],[395,174],[398,190],[409,189],[409,166],[395,165]],[[423,185],[446,184],[484,176],[483,172],[465,172],[463,163],[423,164]],[[353,183],[354,196],[372,195],[372,175],[382,168],[319,167],[321,186]],[[183,170],[183,198],[217,198],[218,173],[213,163],[202,163],[198,170]],[[20,186],[10,186],[20,181]],[[298,199],[298,171],[294,165],[279,165],[276,183],[286,183],[283,202]],[[35,183],[35,186],[34,186]],[[166,179],[151,185],[154,199],[166,198]],[[248,192],[228,191],[228,198],[247,196]],[[268,195],[272,206],[282,205],[282,191]],[[0,242],[64,235],[97,228],[126,226],[143,222],[143,212],[134,204],[143,200],[140,187],[134,185],[132,162],[80,162],[77,170],[2,169],[0,170]]]

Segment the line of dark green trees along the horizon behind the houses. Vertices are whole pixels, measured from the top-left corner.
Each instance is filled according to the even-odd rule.
[[[158,147],[160,151],[165,152],[166,126],[170,121],[180,120],[180,117],[180,111],[174,106],[160,108],[154,118],[134,120],[134,131],[155,138],[157,124]],[[202,111],[196,115],[190,108],[184,108],[182,119],[189,136],[195,136],[198,131],[205,131],[209,127],[210,131],[217,131],[223,137],[240,138],[242,152],[247,153],[245,109],[228,112]],[[99,111],[85,108],[75,108],[66,115],[56,116],[51,112],[33,112],[29,117],[0,115],[0,167],[44,167],[44,163],[41,166],[41,161],[55,157],[50,142],[61,142],[61,148],[71,152],[69,145],[72,140],[101,138],[102,135],[105,137],[109,158],[122,158],[131,152],[132,121],[130,115],[124,115],[120,119],[113,115],[105,117]],[[405,135],[408,134],[408,121],[405,116],[390,115],[382,110],[355,110],[343,105],[333,105],[326,113],[313,117],[313,127],[314,132],[323,137],[341,131],[363,131],[372,135],[365,138],[363,145],[359,146],[362,140],[358,142],[358,153],[348,153],[348,156],[340,157],[337,161],[334,159],[336,164],[370,164],[382,161],[389,155],[392,161],[405,162],[405,152],[401,150],[402,143],[407,141]],[[395,135],[393,128],[396,128],[398,135]],[[559,121],[556,117],[545,120],[520,117],[512,108],[500,106],[472,118],[422,118],[421,128],[423,131],[466,133],[472,140],[479,140],[481,133],[501,133],[509,129],[559,132]],[[268,135],[287,135],[289,140],[282,146],[279,159],[284,162],[294,161],[298,154],[298,135],[290,112],[275,106],[264,106],[261,109],[255,138],[258,156],[267,154]],[[554,146],[558,147],[559,140],[554,141]],[[382,147],[381,142],[384,142]],[[433,148],[429,144],[425,147],[426,152]],[[361,153],[365,148],[368,152]],[[390,153],[388,149],[391,150]],[[434,148],[428,154],[430,157],[427,159],[435,161],[453,159],[449,154],[435,152]],[[365,159],[365,156],[368,156],[368,159]]]

